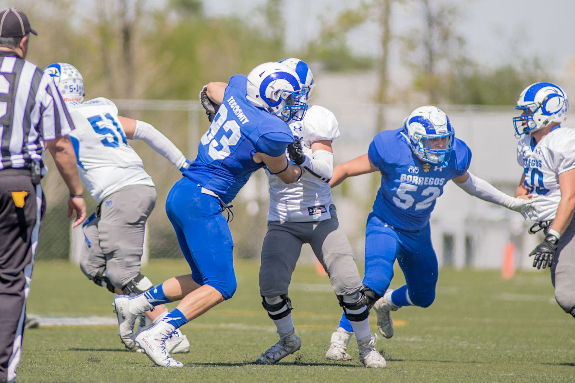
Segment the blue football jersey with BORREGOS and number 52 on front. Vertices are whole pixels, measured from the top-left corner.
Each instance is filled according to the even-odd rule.
[[[397,229],[420,230],[430,219],[435,199],[448,180],[467,172],[471,150],[455,138],[446,168],[420,160],[410,149],[403,129],[375,135],[368,156],[381,170],[381,186],[373,204],[375,215]]]

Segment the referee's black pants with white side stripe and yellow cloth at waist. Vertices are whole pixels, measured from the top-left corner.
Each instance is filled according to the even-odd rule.
[[[20,362],[26,299],[45,211],[40,185],[25,170],[0,170],[0,382]],[[37,198],[39,196],[39,198]]]

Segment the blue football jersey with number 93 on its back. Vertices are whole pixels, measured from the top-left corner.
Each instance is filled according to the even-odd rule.
[[[229,79],[224,102],[198,145],[198,157],[183,173],[225,203],[232,202],[251,173],[265,165],[252,159],[254,153],[281,156],[293,142],[285,122],[246,99],[246,85],[244,75]]]

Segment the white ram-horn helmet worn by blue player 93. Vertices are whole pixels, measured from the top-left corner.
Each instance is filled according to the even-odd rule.
[[[296,72],[285,64],[263,63],[248,74],[247,100],[283,121],[304,118],[308,104],[301,98],[305,94]]]

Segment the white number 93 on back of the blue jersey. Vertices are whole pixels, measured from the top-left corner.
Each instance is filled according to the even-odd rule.
[[[208,155],[212,160],[223,160],[231,154],[230,146],[236,145],[240,141],[240,126],[235,120],[228,119],[228,108],[224,104],[220,105],[212,125],[202,136],[202,145],[209,145]],[[227,120],[227,121],[226,121]],[[224,123],[225,122],[225,123]],[[220,129],[223,128],[223,129]],[[231,132],[231,135],[226,135]],[[221,149],[220,149],[221,148]]]

